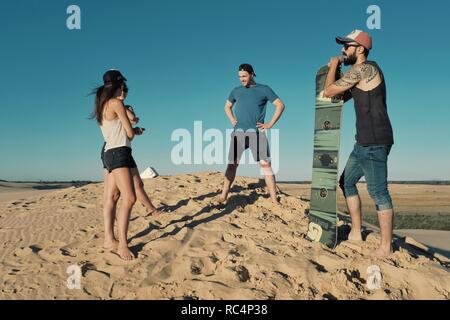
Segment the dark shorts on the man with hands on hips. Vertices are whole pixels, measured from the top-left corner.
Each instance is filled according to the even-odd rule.
[[[242,154],[249,148],[255,161],[270,162],[269,142],[265,133],[234,131],[231,134],[228,163],[239,164]]]

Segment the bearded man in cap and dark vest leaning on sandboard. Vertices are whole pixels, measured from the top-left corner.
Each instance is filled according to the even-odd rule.
[[[364,176],[380,223],[381,243],[375,255],[388,256],[392,253],[394,210],[388,191],[387,159],[394,139],[385,79],[378,64],[367,60],[372,49],[368,33],[355,30],[346,37],[337,37],[336,42],[343,45],[343,57],[331,58],[324,95],[343,95],[345,101],[353,98],[356,112],[356,143],[339,181],[352,219],[348,239],[362,240],[361,199],[356,184]],[[336,81],[341,62],[351,68]]]

